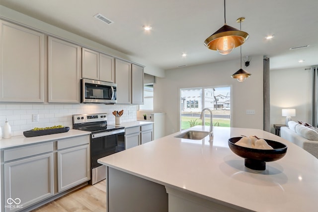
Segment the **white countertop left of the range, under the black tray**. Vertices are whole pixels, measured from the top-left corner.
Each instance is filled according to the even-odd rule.
[[[51,134],[46,136],[36,136],[36,137],[30,137],[30,138],[26,138],[24,136],[14,136],[14,137],[11,137],[10,139],[0,140],[0,149],[9,148],[9,147],[17,147],[17,146],[26,145],[26,144],[34,144],[34,143],[44,142],[44,141],[66,139],[70,137],[83,136],[83,135],[89,135],[89,134],[90,132],[70,129],[66,133],[57,133],[57,134]]]

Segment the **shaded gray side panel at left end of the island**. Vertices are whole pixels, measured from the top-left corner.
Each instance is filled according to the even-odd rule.
[[[168,212],[168,194],[158,183],[107,167],[107,212]]]

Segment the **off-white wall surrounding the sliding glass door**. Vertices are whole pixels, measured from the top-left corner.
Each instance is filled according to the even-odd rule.
[[[232,127],[263,129],[263,56],[253,56],[250,66],[243,67],[252,74],[244,82],[231,77],[239,68],[239,60],[226,61],[167,70],[165,78],[158,77],[154,110],[166,113],[166,134],[180,129],[180,88],[217,85],[232,85]],[[246,115],[247,109],[255,115]]]

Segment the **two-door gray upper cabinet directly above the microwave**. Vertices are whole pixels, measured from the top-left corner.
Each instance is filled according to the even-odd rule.
[[[82,48],[82,78],[114,82],[114,58]]]

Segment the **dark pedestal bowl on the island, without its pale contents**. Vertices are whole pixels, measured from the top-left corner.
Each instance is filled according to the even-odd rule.
[[[287,146],[284,143],[264,139],[273,149],[255,149],[235,144],[242,137],[229,139],[230,149],[244,158],[244,165],[253,170],[265,170],[266,162],[278,160],[285,156]]]

